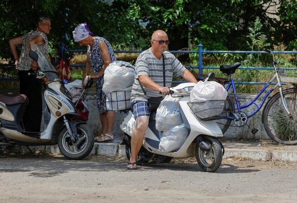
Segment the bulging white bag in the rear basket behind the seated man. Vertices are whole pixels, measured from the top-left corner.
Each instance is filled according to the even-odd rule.
[[[135,68],[128,62],[115,61],[106,67],[102,91],[105,93],[126,89],[134,82]]]

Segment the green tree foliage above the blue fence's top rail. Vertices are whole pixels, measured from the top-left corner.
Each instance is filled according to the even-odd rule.
[[[278,9],[271,10],[274,6]],[[48,38],[58,54],[61,43],[80,48],[72,31],[83,22],[119,50],[149,47],[157,29],[167,32],[170,50],[199,43],[208,50],[246,50],[249,28],[257,18],[271,46],[297,46],[293,0],[2,0],[0,9],[0,57],[5,59],[12,57],[8,40],[32,30],[38,16],[52,19]],[[147,43],[139,44],[139,39]]]

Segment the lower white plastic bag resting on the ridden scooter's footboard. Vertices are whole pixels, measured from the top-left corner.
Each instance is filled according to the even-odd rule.
[[[164,152],[178,151],[188,137],[189,130],[185,124],[174,126],[169,131],[163,132],[159,149]]]

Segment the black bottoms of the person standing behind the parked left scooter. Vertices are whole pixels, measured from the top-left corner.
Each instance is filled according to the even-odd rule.
[[[23,122],[26,131],[39,132],[42,117],[42,84],[34,76],[28,75],[33,70],[19,70],[20,94],[25,94],[29,99]]]

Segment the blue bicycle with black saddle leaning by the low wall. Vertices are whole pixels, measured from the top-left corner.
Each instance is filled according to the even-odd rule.
[[[229,94],[225,101],[225,107],[223,113],[220,115],[222,119],[216,122],[225,133],[227,129],[231,126],[231,122],[235,124],[235,127],[244,126],[248,118],[255,115],[263,106],[262,122],[267,135],[277,143],[286,145],[296,145],[297,144],[297,78],[286,77],[280,74],[284,72],[282,68],[279,67],[279,61],[275,61],[274,55],[271,51],[264,49],[266,53],[272,55],[273,67],[275,74],[267,82],[266,85],[261,89],[261,91],[247,104],[241,105],[237,94],[234,83],[234,78],[232,74],[241,65],[240,63],[235,63],[233,65],[221,65],[220,71],[225,75],[230,76],[230,80],[226,82],[225,88],[228,90]],[[276,81],[275,81],[276,79]],[[275,85],[272,82],[275,81]],[[290,83],[289,88],[283,88],[282,82]],[[269,88],[273,85],[272,88]],[[268,96],[275,90],[278,90],[264,105]],[[258,104],[256,101],[260,96],[264,94],[263,99]],[[250,113],[246,114],[243,109],[256,105],[256,109]],[[258,130],[254,129],[256,133]]]

